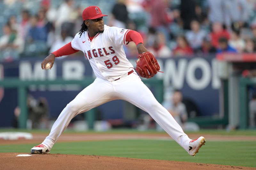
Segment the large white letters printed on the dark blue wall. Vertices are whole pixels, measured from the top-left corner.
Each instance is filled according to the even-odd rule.
[[[134,59],[131,63],[136,67]],[[61,64],[60,64],[61,65]],[[157,79],[164,80],[164,86],[172,86],[174,89],[182,89],[184,83],[193,90],[203,90],[211,85],[212,89],[220,87],[220,79],[217,76],[216,59],[212,59],[211,65],[204,58],[186,58],[175,61],[174,59],[167,59],[165,62],[159,60],[160,71],[155,76]],[[196,70],[200,69],[202,76],[196,78]],[[85,65],[80,60],[66,60],[62,63],[62,72],[60,77],[66,80],[79,80],[85,75]],[[95,77],[94,73],[92,75]],[[57,62],[54,63],[51,70],[42,70],[41,61],[31,63],[30,61],[22,61],[19,65],[19,76],[21,80],[54,80],[57,78]],[[51,90],[67,90],[60,86],[52,85]],[[30,89],[31,90],[31,89]],[[43,88],[41,88],[43,90]]]

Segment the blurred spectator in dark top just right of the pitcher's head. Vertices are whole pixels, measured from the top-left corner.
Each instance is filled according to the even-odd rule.
[[[109,19],[109,26],[116,26],[119,28],[127,28],[128,24],[128,11],[125,5],[125,0],[116,0]]]

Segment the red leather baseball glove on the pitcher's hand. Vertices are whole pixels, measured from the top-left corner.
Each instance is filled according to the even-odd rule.
[[[152,78],[160,70],[155,56],[151,52],[139,54],[136,61],[136,72],[140,77]]]

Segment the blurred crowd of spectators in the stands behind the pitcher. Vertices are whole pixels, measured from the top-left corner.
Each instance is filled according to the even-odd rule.
[[[108,26],[138,31],[156,57],[256,52],[254,0],[4,0],[0,61],[45,57],[72,41],[89,5],[108,14]],[[128,58],[137,56],[134,43],[124,48]]]

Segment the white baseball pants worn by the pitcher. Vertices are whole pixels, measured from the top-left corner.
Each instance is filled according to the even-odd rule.
[[[155,99],[152,92],[133,72],[125,74],[119,80],[109,82],[96,78],[95,81],[82,90],[60,113],[52,126],[49,136],[43,142],[49,150],[61,133],[67,128],[72,118],[94,107],[112,100],[126,100],[148,114],[188,152],[191,139],[183,132],[172,115]]]

